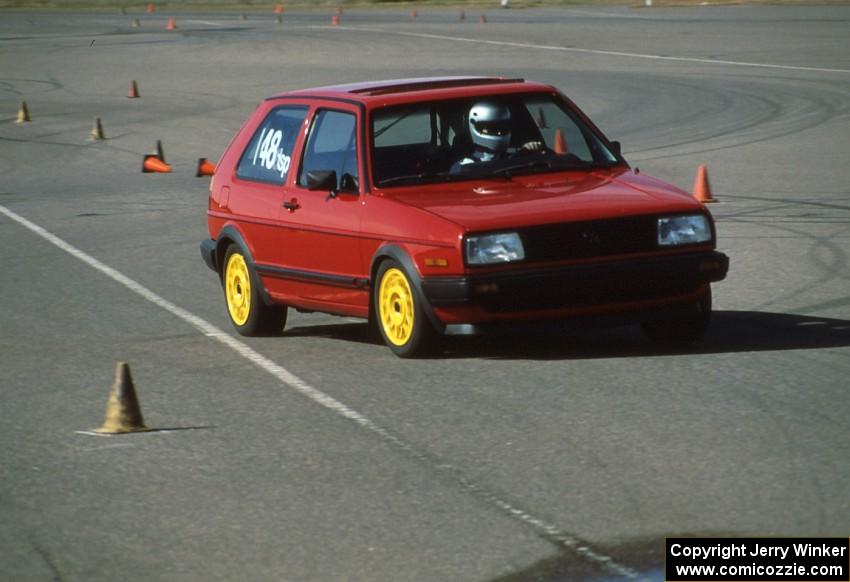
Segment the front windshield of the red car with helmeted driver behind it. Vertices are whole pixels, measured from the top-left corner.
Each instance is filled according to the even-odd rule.
[[[432,101],[376,110],[378,187],[585,170],[620,163],[558,95]]]

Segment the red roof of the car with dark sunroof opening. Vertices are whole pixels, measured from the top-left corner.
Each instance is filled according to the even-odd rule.
[[[269,99],[292,97],[341,99],[374,107],[430,99],[476,97],[493,93],[554,90],[550,85],[510,77],[417,77],[300,89],[279,93]]]

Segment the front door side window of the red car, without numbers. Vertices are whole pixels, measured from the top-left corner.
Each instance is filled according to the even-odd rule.
[[[322,109],[316,114],[304,148],[299,186],[307,186],[308,172],[332,170],[338,191],[359,192],[356,127],[353,113]]]

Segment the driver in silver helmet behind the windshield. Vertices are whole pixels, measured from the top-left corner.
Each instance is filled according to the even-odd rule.
[[[451,173],[458,173],[469,164],[510,157],[511,110],[500,103],[479,101],[469,110],[469,136],[472,138],[473,151],[455,162]],[[539,150],[542,145],[540,142],[530,142],[521,149]]]

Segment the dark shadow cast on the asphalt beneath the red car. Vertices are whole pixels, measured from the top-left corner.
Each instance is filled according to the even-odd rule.
[[[301,326],[287,330],[284,336],[382,344],[365,322]],[[583,360],[847,346],[850,346],[848,320],[759,311],[715,311],[705,338],[682,348],[655,345],[646,339],[638,326],[591,328],[553,323],[507,327],[484,336],[449,337],[443,343],[443,349],[433,357]]]

